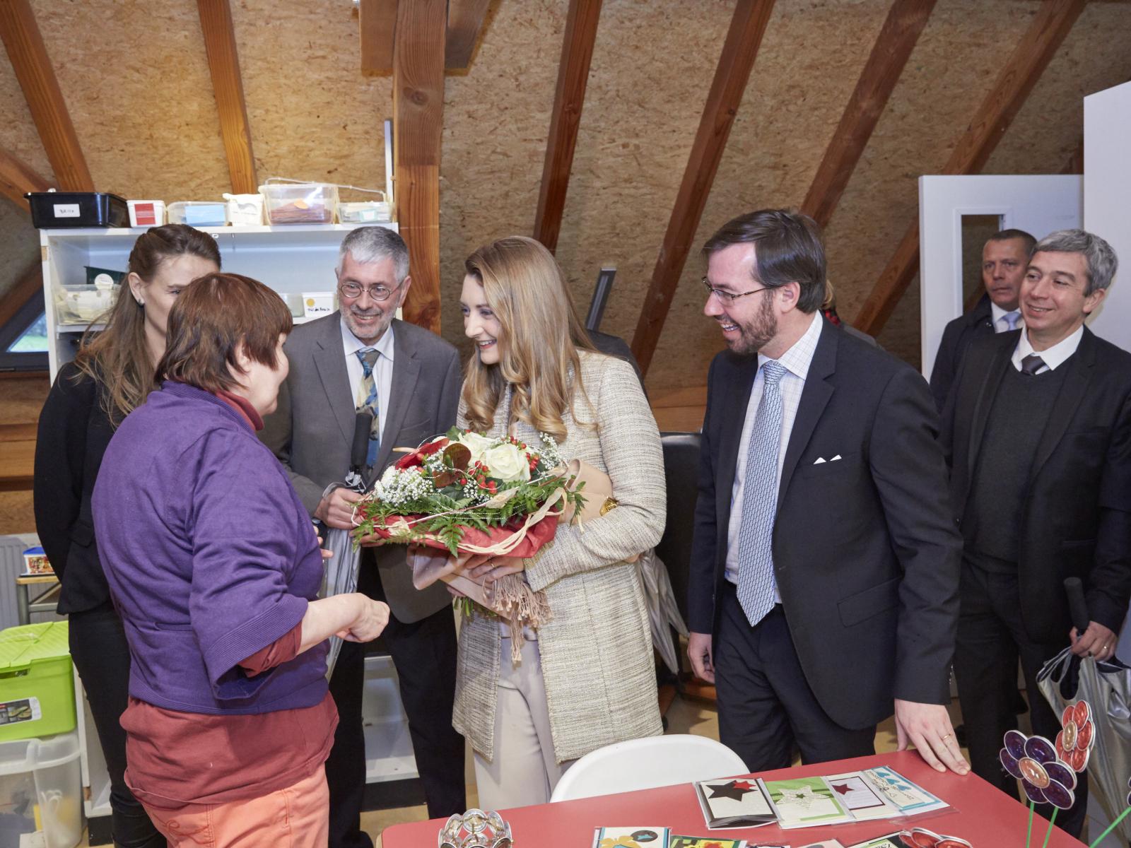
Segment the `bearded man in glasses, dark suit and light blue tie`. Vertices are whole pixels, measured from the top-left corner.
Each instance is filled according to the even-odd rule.
[[[768,209],[703,248],[728,351],[707,389],[689,656],[751,771],[900,747],[968,770],[946,704],[961,540],[926,382],[818,312],[817,224]]]

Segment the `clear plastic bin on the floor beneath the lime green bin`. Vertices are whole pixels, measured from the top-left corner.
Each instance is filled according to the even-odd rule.
[[[75,848],[83,837],[77,733],[0,742],[0,843],[41,830],[46,848]]]

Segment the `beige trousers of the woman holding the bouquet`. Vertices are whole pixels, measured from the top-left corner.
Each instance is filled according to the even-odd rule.
[[[545,804],[576,760],[554,762],[550,708],[536,639],[523,640],[523,661],[510,661],[510,639],[502,640],[495,690],[494,760],[475,752],[475,784],[481,810]]]

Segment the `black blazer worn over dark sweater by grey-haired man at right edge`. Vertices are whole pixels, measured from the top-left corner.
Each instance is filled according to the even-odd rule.
[[[943,413],[952,514],[966,512],[994,395],[1021,330],[977,339]],[[1021,513],[1021,617],[1037,642],[1072,628],[1064,578],[1083,581],[1088,614],[1119,632],[1131,596],[1131,354],[1087,327],[1037,447]]]

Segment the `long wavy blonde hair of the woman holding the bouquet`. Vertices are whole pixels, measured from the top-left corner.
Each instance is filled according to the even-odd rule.
[[[480,248],[464,263],[483,286],[499,319],[499,364],[467,363],[464,400],[473,430],[486,431],[503,390],[512,389],[509,417],[525,421],[559,441],[567,436],[562,416],[577,421],[575,400],[585,395],[579,349],[594,351],[553,254],[539,242],[510,236]],[[582,426],[592,426],[584,424]]]

